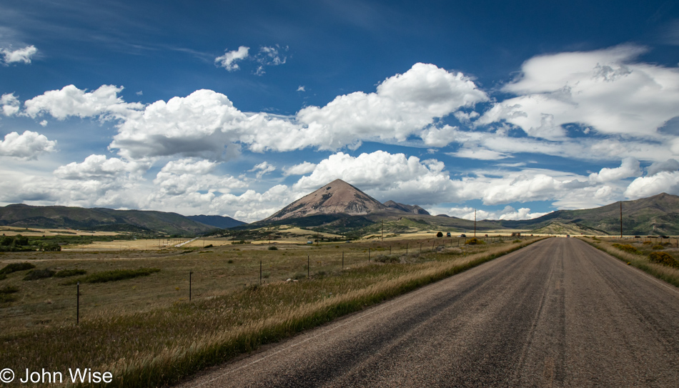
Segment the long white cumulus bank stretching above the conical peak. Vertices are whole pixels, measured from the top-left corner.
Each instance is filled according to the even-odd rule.
[[[402,141],[425,128],[425,141],[444,144],[454,129],[432,127],[435,119],[485,100],[485,93],[464,75],[427,64],[390,77],[375,93],[338,96],[295,116],[242,112],[224,94],[199,90],[128,114],[111,148],[129,158],[181,154],[220,159],[232,143],[257,152],[311,146],[334,150],[366,139]]]

